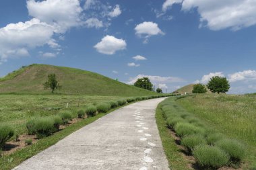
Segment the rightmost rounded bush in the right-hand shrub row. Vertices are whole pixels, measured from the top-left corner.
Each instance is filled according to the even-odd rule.
[[[225,138],[216,142],[216,146],[219,146],[223,151],[228,153],[234,162],[241,161],[245,157],[245,146],[237,140]]]

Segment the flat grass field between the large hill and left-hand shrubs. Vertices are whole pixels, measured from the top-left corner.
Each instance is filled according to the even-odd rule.
[[[24,134],[27,120],[34,116],[55,115],[63,110],[71,110],[75,114],[77,109],[84,108],[88,103],[121,98],[86,95],[0,95],[0,124],[10,124],[16,133]]]

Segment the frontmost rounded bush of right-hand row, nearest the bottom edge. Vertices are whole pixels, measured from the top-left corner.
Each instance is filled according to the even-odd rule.
[[[197,163],[204,167],[222,167],[228,163],[229,155],[217,146],[199,145],[193,150],[193,155]]]

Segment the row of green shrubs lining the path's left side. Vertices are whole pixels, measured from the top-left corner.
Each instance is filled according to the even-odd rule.
[[[144,99],[153,99],[158,97],[167,97],[172,94],[162,95],[150,95],[143,97],[129,97],[127,99],[119,99],[117,101],[106,101],[94,104],[88,104],[85,108],[71,111],[64,111],[55,116],[46,117],[34,117],[26,122],[26,128],[28,134],[36,134],[37,138],[44,138],[57,132],[61,125],[68,124],[73,118],[85,118],[96,116],[96,113],[106,113],[110,109],[117,108],[118,106],[125,105],[134,101],[140,101]],[[14,135],[14,130],[11,126],[0,124],[0,149],[4,146],[5,142]]]

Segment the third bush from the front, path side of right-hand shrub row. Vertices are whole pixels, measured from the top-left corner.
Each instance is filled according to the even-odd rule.
[[[178,123],[175,127],[174,130],[176,134],[180,137],[183,137],[185,135],[190,135],[190,134],[205,134],[205,130],[200,127],[196,127],[193,124],[189,123]]]

